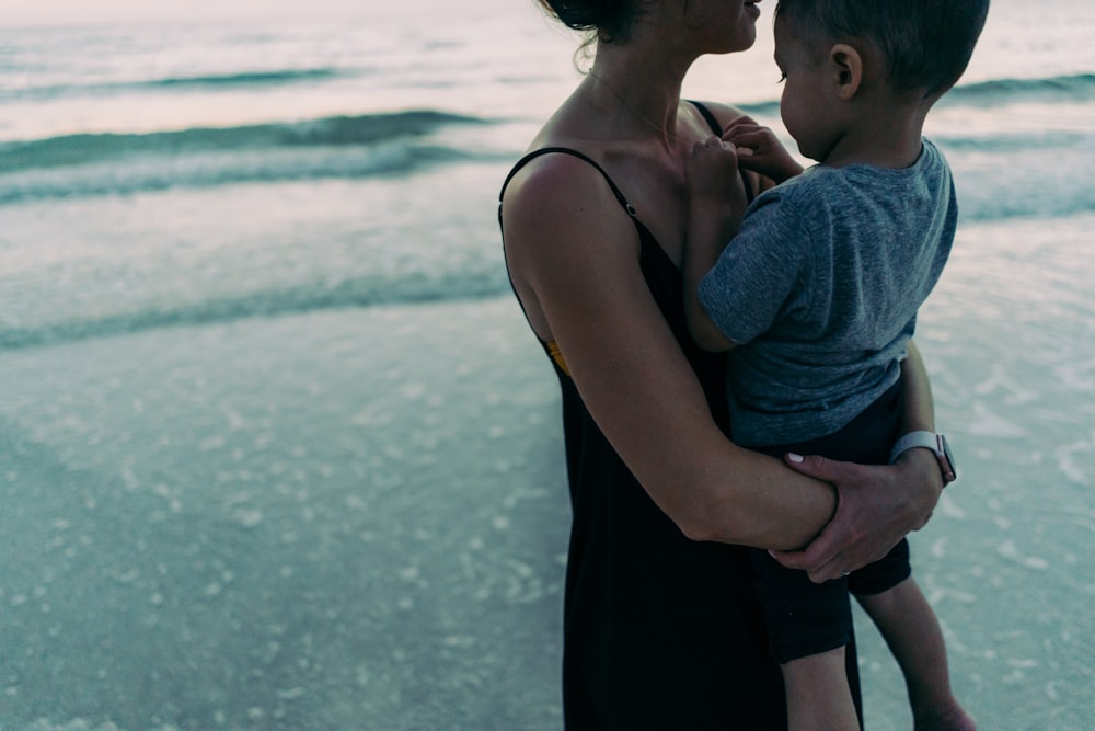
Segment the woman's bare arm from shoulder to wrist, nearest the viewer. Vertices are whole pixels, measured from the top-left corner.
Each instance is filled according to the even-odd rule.
[[[606,437],[687,536],[793,548],[818,534],[834,491],[738,448],[715,424],[643,278],[634,225],[596,171],[567,156],[530,163],[507,189],[503,226],[541,336],[558,344]]]

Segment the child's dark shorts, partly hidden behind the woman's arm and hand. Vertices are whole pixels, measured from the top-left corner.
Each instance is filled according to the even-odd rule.
[[[885,465],[899,436],[903,390],[899,380],[850,424],[829,436],[764,447],[773,457],[787,452],[823,455],[861,465]],[[851,575],[815,584],[805,571],[785,569],[768,551],[749,551],[753,589],[764,613],[769,644],[775,659],[789,662],[826,652],[852,641],[852,608],[849,592],[878,594],[901,583],[912,572],[909,544],[901,540],[883,559]]]

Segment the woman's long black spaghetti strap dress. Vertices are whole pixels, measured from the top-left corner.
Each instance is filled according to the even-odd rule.
[[[576,150],[543,148],[514,167],[503,194],[530,160],[554,153],[600,171],[631,216],[650,294],[728,433],[724,357],[692,342],[680,271],[608,173]],[[562,389],[573,509],[563,621],[566,729],[786,729],[783,681],[768,650],[746,549],[685,538],[598,429],[554,343],[541,344]],[[849,655],[854,671],[854,647]],[[857,678],[853,687],[857,697]]]

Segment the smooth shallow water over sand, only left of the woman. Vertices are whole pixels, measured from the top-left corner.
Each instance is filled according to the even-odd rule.
[[[0,729],[551,728],[554,384],[443,312],[5,354]]]

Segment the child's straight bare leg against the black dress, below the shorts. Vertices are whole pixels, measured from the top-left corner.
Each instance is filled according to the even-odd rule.
[[[844,648],[780,665],[787,692],[789,731],[858,731]]]

